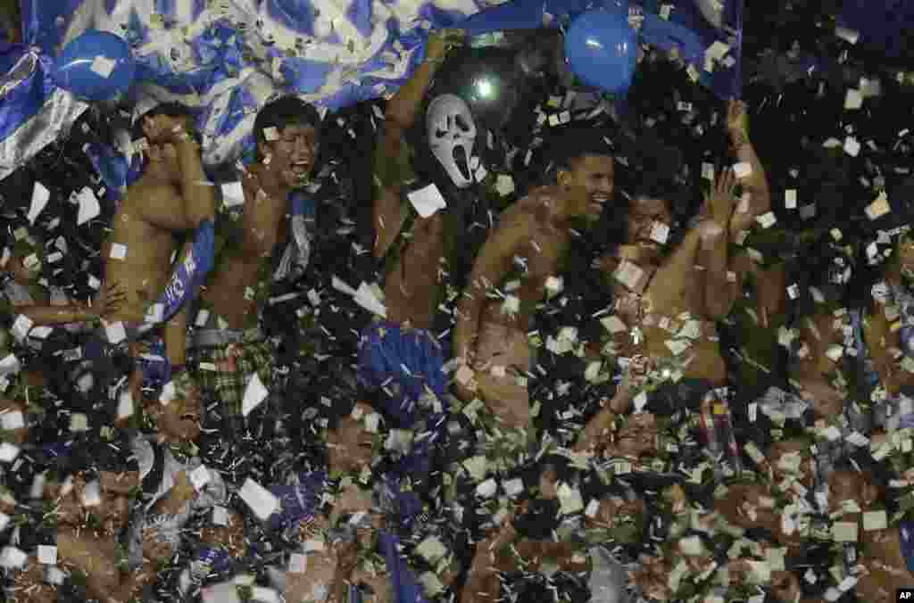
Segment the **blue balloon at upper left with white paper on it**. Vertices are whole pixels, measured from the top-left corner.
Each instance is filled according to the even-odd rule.
[[[85,100],[112,100],[130,88],[135,74],[126,40],[94,29],[70,42],[54,65],[58,86]]]

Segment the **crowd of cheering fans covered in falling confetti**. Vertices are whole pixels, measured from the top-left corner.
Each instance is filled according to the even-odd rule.
[[[626,103],[544,83],[509,132],[441,74],[459,42],[386,101],[272,100],[218,173],[164,104],[5,181],[8,600],[914,587],[904,79],[781,92],[824,113],[792,149],[647,56]],[[119,120],[143,172],[105,191]]]

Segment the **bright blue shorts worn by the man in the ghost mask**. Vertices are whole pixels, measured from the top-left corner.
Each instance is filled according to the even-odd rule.
[[[359,338],[359,382],[386,394],[380,397],[384,405],[380,410],[402,428],[419,420],[418,402],[428,390],[443,397],[447,388],[443,366],[441,344],[428,331],[385,321],[368,325]]]

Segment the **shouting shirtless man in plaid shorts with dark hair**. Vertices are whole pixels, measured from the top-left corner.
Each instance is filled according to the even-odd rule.
[[[269,272],[273,249],[285,241],[290,192],[307,184],[314,171],[320,127],[317,110],[295,97],[267,104],[254,122],[260,160],[241,183],[241,240],[220,257],[201,294],[210,314],[193,341],[197,381],[221,401],[225,420],[241,417],[253,374],[271,386],[273,350],[258,330],[258,304],[271,283],[263,271]]]

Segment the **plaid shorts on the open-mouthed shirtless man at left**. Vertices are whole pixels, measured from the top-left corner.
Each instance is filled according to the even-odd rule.
[[[273,383],[275,354],[269,340],[198,347],[197,384],[221,404],[223,418],[240,417],[244,392],[254,374],[268,390]]]

